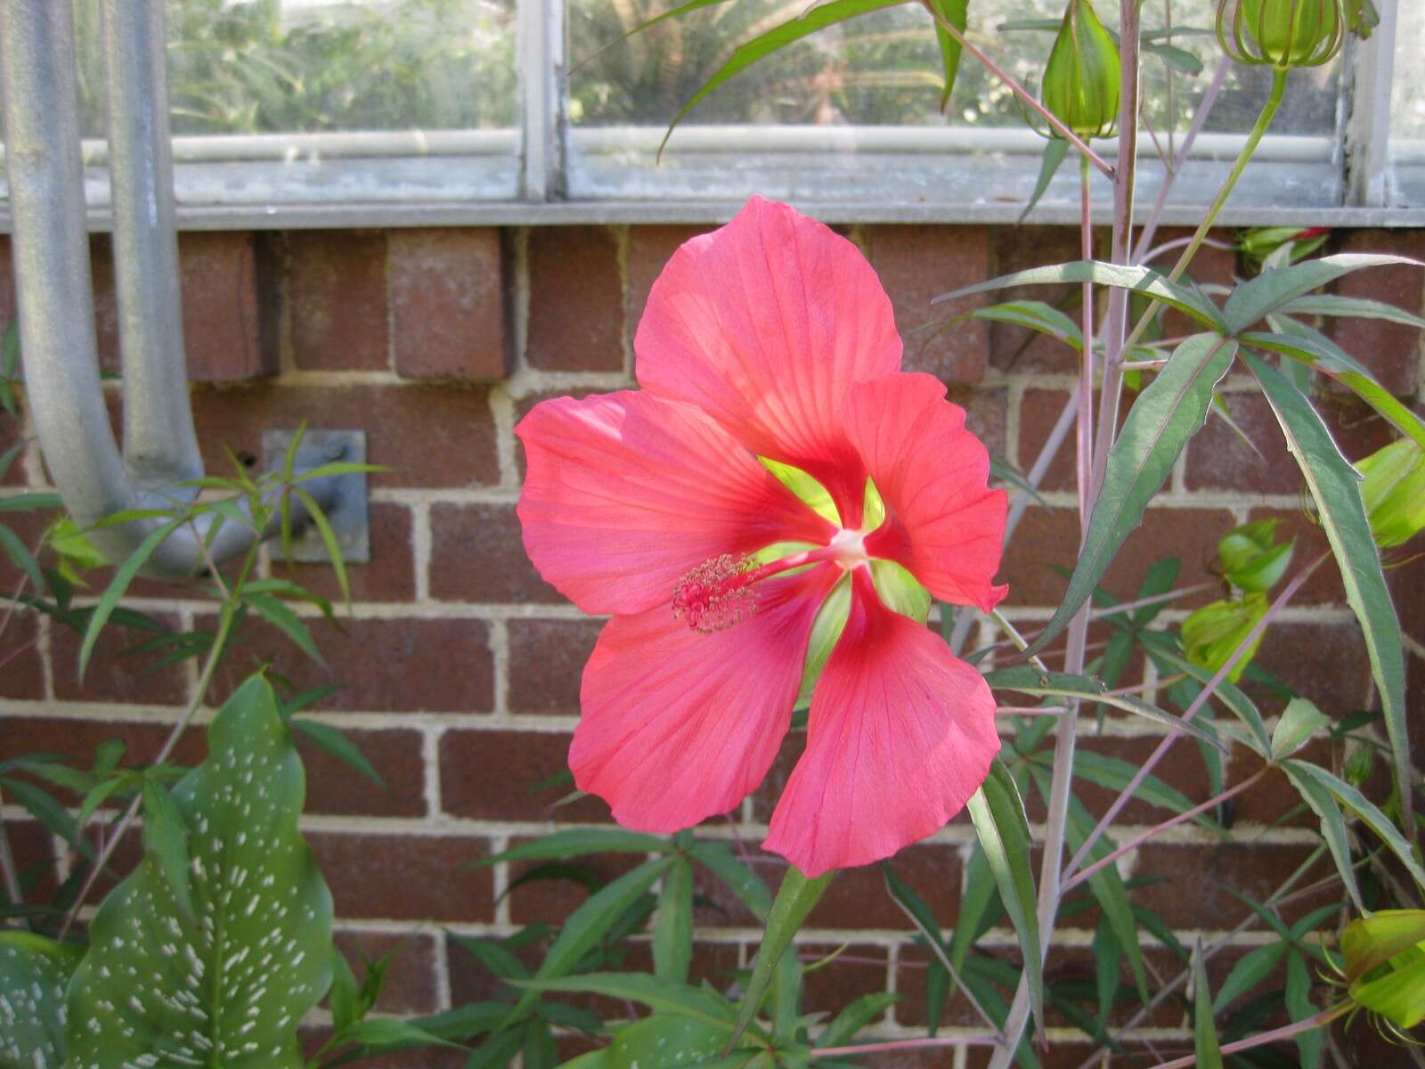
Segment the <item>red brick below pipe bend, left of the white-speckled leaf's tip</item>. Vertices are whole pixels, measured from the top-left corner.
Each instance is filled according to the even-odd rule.
[[[181,630],[177,617],[151,613],[170,630]],[[50,627],[50,664],[54,697],[60,701],[115,701],[144,706],[185,706],[188,677],[182,664],[150,670],[155,654],[137,653],[154,637],[151,631],[108,624],[100,633],[83,681],[78,678],[80,636],[63,626]]]

